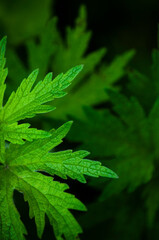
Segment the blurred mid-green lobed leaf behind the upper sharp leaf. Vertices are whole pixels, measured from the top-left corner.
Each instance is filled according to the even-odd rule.
[[[48,23],[38,35],[38,43],[34,39],[27,41],[28,68],[15,51],[8,51],[9,77],[17,85],[17,79],[20,80],[37,67],[40,68],[39,79],[42,79],[48,69],[52,69],[56,75],[74,65],[84,64],[84,70],[70,86],[71,94],[64,100],[56,100],[56,114],[49,115],[63,120],[70,114],[83,118],[82,106],[95,105],[105,100],[104,88],[112,87],[125,74],[125,66],[134,55],[134,50],[116,57],[110,64],[100,64],[99,67],[106,49],[87,54],[91,32],[86,30],[85,7],[80,8],[75,27],[67,28],[65,39],[60,35],[56,23],[56,18]]]

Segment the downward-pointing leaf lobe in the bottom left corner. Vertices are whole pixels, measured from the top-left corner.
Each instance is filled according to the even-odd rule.
[[[0,166],[0,239],[25,240],[27,233],[13,201],[17,176]]]

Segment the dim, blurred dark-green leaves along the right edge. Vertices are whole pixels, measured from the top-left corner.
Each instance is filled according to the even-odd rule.
[[[158,66],[159,50],[154,50],[149,74],[144,75],[136,70],[129,72],[125,94],[106,90],[110,100],[109,108],[84,108],[86,120],[76,119],[68,136],[69,140],[80,143],[92,152],[96,159],[103,158],[103,163],[119,175],[118,181],[91,182],[99,189],[104,186],[99,199],[102,202],[91,205],[90,215],[86,219],[81,218],[81,223],[91,219],[88,228],[98,224],[99,229],[101,223],[107,225],[107,221],[112,219],[114,224],[110,229],[114,233],[110,232],[109,237],[107,232],[110,240],[119,235],[122,239],[130,236],[131,239],[141,239],[145,229],[150,234],[147,239],[152,239],[152,232],[155,231],[158,236]],[[132,199],[138,207],[133,205]],[[118,208],[114,208],[116,204]],[[104,206],[111,206],[110,211],[104,211]],[[94,208],[97,213],[93,220],[91,214],[94,215]]]

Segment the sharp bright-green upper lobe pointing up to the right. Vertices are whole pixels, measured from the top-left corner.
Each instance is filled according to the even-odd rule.
[[[33,117],[37,113],[48,112],[48,107],[42,104],[64,96],[63,90],[71,84],[82,68],[82,65],[74,67],[66,74],[58,75],[53,81],[52,74],[49,73],[32,89],[38,74],[38,70],[35,70],[22,81],[16,93],[12,92],[3,108],[3,120],[13,123]],[[49,110],[53,110],[53,108],[49,108]]]

